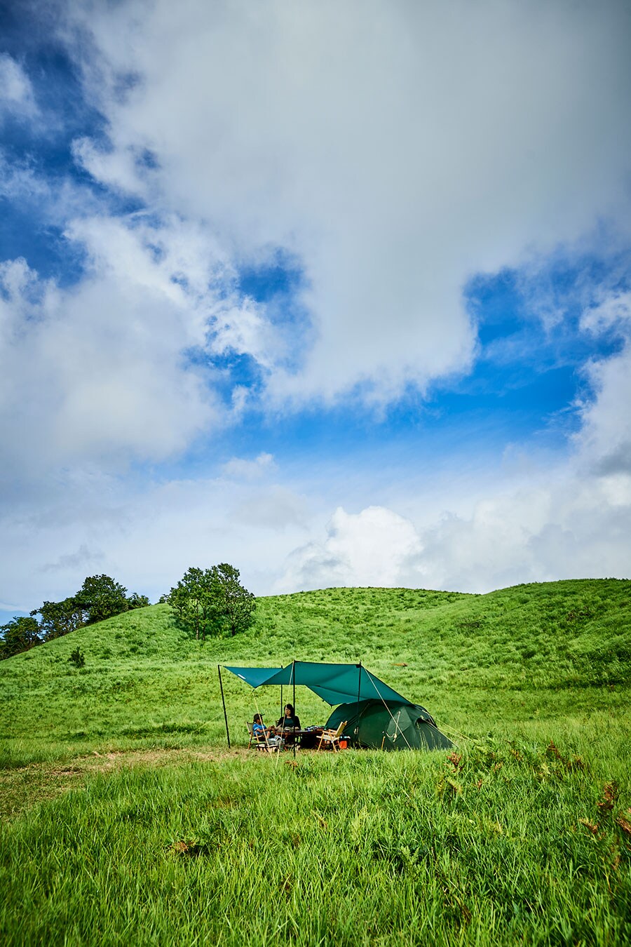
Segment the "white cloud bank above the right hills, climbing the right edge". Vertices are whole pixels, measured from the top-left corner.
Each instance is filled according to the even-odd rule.
[[[291,552],[283,590],[405,585],[487,592],[524,581],[631,575],[631,298],[612,292],[584,313],[584,331],[621,347],[586,367],[573,450],[552,466],[507,471],[463,497],[420,496],[410,518],[392,509],[336,510],[324,541]],[[474,498],[474,495],[477,496]],[[455,506],[461,509],[455,511]]]

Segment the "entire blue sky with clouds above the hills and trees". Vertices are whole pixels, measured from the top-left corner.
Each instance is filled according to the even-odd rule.
[[[625,0],[3,0],[0,619],[631,575]]]

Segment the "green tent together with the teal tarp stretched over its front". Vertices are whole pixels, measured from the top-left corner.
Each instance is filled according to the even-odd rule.
[[[251,688],[302,686],[330,706],[342,705],[331,714],[327,726],[347,721],[344,733],[356,745],[393,750],[453,746],[425,707],[412,704],[362,664],[292,661],[286,668],[224,667]]]

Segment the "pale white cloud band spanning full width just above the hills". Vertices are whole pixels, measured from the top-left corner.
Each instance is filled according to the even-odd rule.
[[[599,466],[601,424],[615,418],[601,408],[618,375],[602,378],[586,414],[589,437],[569,459],[551,468],[534,456],[493,477],[483,465],[466,474],[456,459],[415,483],[412,462],[390,506],[362,502],[375,495],[379,472],[366,467],[346,482],[329,482],[325,470],[289,478],[267,454],[235,457],[219,478],[197,481],[134,485],[85,465],[58,474],[3,516],[11,555],[0,598],[35,607],[104,571],[157,599],[189,565],[222,561],[236,563],[256,594],[339,585],[485,592],[628,577],[631,475]],[[623,428],[625,412],[618,417]],[[343,506],[334,509],[334,497]],[[334,509],[328,523],[326,509]]]

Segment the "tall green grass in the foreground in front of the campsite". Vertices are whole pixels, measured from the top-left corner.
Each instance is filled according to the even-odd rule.
[[[595,771],[605,755],[625,777],[621,750],[622,735],[598,759],[532,742],[450,757],[252,752],[92,777],[4,830],[0,885],[12,894],[0,933],[50,944],[625,943],[620,798],[614,786],[606,808]]]

